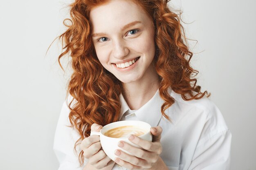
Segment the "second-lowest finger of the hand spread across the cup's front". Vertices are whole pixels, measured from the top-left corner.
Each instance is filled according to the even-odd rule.
[[[115,150],[115,155],[123,161],[129,162],[132,165],[142,166],[143,168],[151,168],[145,159],[141,159],[123,152],[122,150]]]

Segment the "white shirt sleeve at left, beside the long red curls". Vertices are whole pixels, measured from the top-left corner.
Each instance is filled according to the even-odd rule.
[[[76,147],[77,153],[74,151],[74,145],[80,137],[74,128],[68,127],[71,125],[69,114],[70,109],[65,101],[56,127],[53,150],[60,163],[58,170],[82,170],[77,156],[81,151],[80,147]]]

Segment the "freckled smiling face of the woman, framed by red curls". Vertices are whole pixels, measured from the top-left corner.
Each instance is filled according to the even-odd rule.
[[[90,22],[93,44],[104,68],[123,83],[151,78],[154,27],[137,4],[111,0],[90,11]]]

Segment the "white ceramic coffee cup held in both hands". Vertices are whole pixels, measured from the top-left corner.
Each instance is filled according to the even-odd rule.
[[[108,136],[104,135],[105,132],[107,132],[108,130],[117,128],[120,126],[136,126],[136,127],[142,128],[142,129],[146,130],[146,133],[143,135],[140,135],[139,138],[147,140],[147,141],[152,141],[152,134],[150,132],[151,126],[150,126],[150,124],[148,124],[144,121],[136,121],[136,120],[116,121],[116,122],[107,124],[106,126],[103,126],[103,128],[99,132],[92,131],[90,135],[99,135],[102,149],[104,150],[106,155],[108,155],[108,157],[110,159],[112,159],[113,161],[117,157],[117,155],[115,155],[115,153],[114,153],[115,150],[117,150],[117,149],[122,150],[129,155],[132,155],[130,152],[127,152],[126,150],[119,148],[119,146],[117,145],[119,141],[125,141],[126,143],[128,143],[132,146],[141,148],[140,146],[133,144],[131,141],[129,141],[128,138],[112,138],[112,137],[108,137]],[[134,155],[132,155],[132,156],[134,156]]]

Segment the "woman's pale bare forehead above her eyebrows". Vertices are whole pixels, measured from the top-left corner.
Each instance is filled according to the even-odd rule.
[[[146,12],[132,0],[111,0],[90,11],[93,32],[105,31],[112,26],[121,28],[133,21],[141,21],[145,24],[147,20],[149,18]]]

